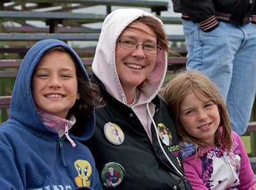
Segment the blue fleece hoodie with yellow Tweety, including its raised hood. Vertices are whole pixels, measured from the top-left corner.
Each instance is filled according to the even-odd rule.
[[[28,51],[13,87],[11,118],[0,126],[0,189],[76,189],[88,181],[90,187],[84,189],[102,189],[92,154],[80,143],[93,134],[94,110],[89,119],[84,117],[73,126],[79,128],[79,135],[69,133],[76,143],[72,147],[65,135],[59,138],[56,131],[45,126],[33,101],[33,70],[45,51],[60,46],[74,55],[88,78],[76,52],[62,41],[38,41]]]

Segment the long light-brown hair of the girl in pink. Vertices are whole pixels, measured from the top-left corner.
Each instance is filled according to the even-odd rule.
[[[166,103],[170,105],[180,142],[190,142],[194,147],[196,144],[199,146],[198,151],[209,145],[198,138],[189,135],[179,120],[180,104],[190,92],[195,91],[202,93],[218,106],[220,112],[220,126],[223,127],[223,132],[222,135],[220,135],[220,128],[218,128],[215,133],[215,139],[218,140],[220,138],[223,148],[229,152],[232,145],[231,124],[225,103],[213,82],[200,73],[200,71],[196,70],[179,71],[171,78],[163,89],[163,98]]]

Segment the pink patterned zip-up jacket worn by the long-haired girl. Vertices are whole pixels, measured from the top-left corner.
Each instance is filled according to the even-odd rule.
[[[184,171],[193,190],[256,189],[256,180],[243,142],[234,131],[231,137],[233,144],[229,153],[223,150],[221,142],[216,147],[206,147],[208,153],[204,149],[203,154],[198,152],[197,155],[191,150],[193,146],[186,146]]]

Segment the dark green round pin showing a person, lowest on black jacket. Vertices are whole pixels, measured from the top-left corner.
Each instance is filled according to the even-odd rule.
[[[121,164],[111,162],[105,164],[101,179],[106,187],[117,187],[125,179],[125,170]]]

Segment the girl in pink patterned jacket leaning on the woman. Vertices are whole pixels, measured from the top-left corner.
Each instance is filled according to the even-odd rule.
[[[180,138],[184,171],[194,190],[256,189],[241,138],[227,108],[200,71],[180,71],[164,87]]]

